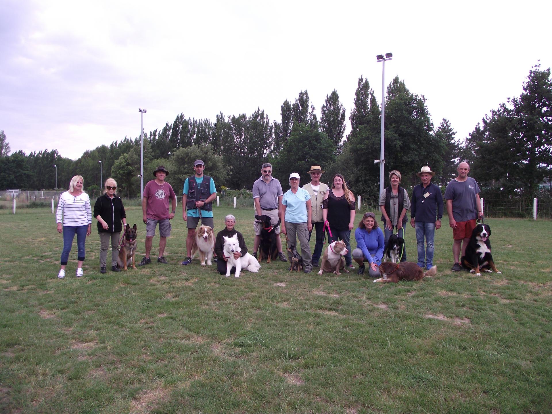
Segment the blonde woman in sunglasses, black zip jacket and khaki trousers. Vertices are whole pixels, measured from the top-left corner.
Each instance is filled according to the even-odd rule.
[[[100,235],[100,273],[107,272],[107,250],[111,240],[111,269],[120,272],[117,267],[119,256],[119,237],[121,230],[126,226],[126,213],[123,200],[116,195],[117,182],[113,178],[105,180],[105,189],[102,196],[98,197],[94,204],[94,217],[98,220],[98,233]],[[123,226],[121,226],[121,220]]]

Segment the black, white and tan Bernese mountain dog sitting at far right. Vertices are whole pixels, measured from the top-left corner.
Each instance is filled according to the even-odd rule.
[[[475,273],[476,276],[481,276],[481,270],[502,273],[498,272],[495,261],[492,259],[490,236],[491,227],[488,224],[477,224],[474,231],[471,232],[465,254],[460,259],[462,266],[469,269],[470,273]]]

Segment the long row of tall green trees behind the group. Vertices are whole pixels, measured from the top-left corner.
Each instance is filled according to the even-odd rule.
[[[163,164],[171,171],[168,181],[179,189],[193,174],[193,160],[201,158],[219,187],[251,188],[263,162],[273,163],[274,176],[287,187],[289,173],[298,172],[306,182],[309,167],[319,164],[327,181],[331,174],[342,173],[355,194],[373,197],[379,187],[379,165],[374,160],[380,153],[381,108],[362,76],[353,103],[347,136],[346,111],[335,90],[326,95],[320,120],[307,91],[294,102],[285,100],[280,118],[273,122],[260,108],[251,115],[219,113],[214,121],[179,114],[172,124],[145,135],[144,180]],[[539,183],[551,178],[551,103],[550,69],[534,66],[523,93],[492,110],[460,143],[450,122],[443,119],[435,127],[424,96],[395,77],[387,88],[385,107],[386,170],[401,171],[408,187],[418,183],[421,166],[429,165],[437,173],[435,181],[446,185],[454,178],[458,161],[467,160],[482,186],[534,194]],[[85,178],[85,187],[99,187],[101,160],[103,177],[117,179],[123,195],[140,193],[139,138],[99,146],[76,161],[61,157],[57,150],[7,153],[9,144],[2,131],[0,188],[54,188],[54,164],[58,187],[66,188],[76,173]]]

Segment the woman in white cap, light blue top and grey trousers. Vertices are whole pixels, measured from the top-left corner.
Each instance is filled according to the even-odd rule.
[[[311,202],[309,192],[299,188],[300,179],[298,173],[289,175],[291,188],[284,193],[282,198],[280,231],[284,233],[288,247],[297,246],[297,238],[299,238],[303,271],[310,273],[312,270],[312,254],[309,246],[309,232],[312,231]],[[291,262],[289,253],[288,259]]]

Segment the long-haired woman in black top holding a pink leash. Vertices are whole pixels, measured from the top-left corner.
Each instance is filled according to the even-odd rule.
[[[324,223],[330,226],[332,232],[331,241],[343,240],[349,251],[345,255],[345,264],[354,269],[351,258],[351,230],[354,227],[354,195],[347,188],[345,179],[341,174],[332,178],[332,188],[326,193],[322,201],[322,217]]]

